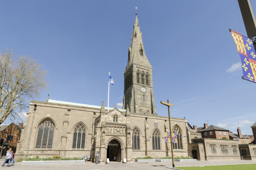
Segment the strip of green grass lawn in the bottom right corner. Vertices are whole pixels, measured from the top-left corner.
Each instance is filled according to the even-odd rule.
[[[175,167],[182,170],[256,170],[256,164]]]

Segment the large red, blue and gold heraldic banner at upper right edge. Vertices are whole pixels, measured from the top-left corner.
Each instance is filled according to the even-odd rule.
[[[232,37],[239,52],[243,78],[248,81],[256,82],[256,52],[253,47],[252,39],[231,30]]]

